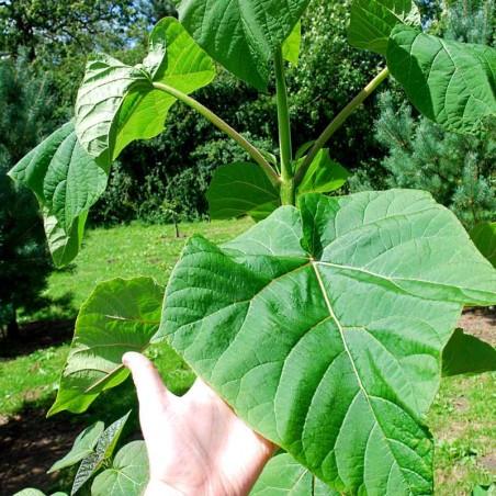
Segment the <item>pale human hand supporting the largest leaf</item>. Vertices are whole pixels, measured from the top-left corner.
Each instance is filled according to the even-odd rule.
[[[139,401],[150,466],[145,496],[247,495],[274,446],[253,432],[201,380],[182,397],[167,391],[143,354],[124,354]]]

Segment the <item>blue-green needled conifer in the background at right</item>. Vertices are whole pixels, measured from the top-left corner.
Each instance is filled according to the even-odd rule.
[[[494,43],[494,0],[458,0],[443,11],[443,36],[467,43]],[[418,116],[394,89],[383,93],[375,137],[387,155],[380,167],[359,171],[354,191],[377,188],[427,190],[466,227],[494,219],[496,212],[496,124],[478,137],[448,133]]]

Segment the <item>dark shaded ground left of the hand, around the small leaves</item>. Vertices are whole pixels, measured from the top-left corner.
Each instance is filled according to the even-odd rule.
[[[69,494],[76,469],[54,474],[46,472],[70,450],[76,436],[97,420],[109,426],[132,410],[121,442],[140,436],[137,401],[129,380],[102,394],[82,415],[60,413],[46,418],[54,399],[55,393],[43,401],[26,401],[12,417],[0,417],[1,496],[11,496],[25,487],[36,487],[48,494],[56,491]]]

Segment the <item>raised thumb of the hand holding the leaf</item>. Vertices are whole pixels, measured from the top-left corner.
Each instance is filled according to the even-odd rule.
[[[133,375],[140,412],[162,412],[172,394],[167,391],[154,364],[143,354],[135,352],[125,353],[122,362]]]

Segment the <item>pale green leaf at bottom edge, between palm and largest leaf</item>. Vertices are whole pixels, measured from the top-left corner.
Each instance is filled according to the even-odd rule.
[[[273,456],[250,496],[339,496],[288,453]]]

